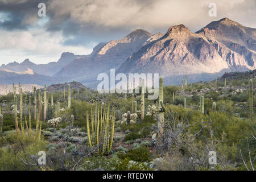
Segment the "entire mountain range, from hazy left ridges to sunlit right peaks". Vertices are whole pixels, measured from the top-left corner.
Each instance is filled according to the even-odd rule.
[[[28,68],[34,75],[16,73]],[[48,84],[76,80],[95,88],[98,74],[109,73],[111,68],[116,73],[159,73],[166,78],[164,84],[180,84],[185,75],[188,82],[196,82],[225,72],[253,70],[256,29],[228,18],[211,22],[197,32],[183,24],[171,26],[166,34],[137,29],[122,39],[98,44],[90,55],[67,52],[59,61],[48,64],[34,64],[27,59],[20,64],[2,65],[0,78],[4,78],[3,84],[7,80],[22,82],[26,76],[27,82],[41,77],[41,82]]]

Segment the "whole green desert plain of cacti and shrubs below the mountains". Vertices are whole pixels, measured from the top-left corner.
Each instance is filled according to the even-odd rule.
[[[0,170],[255,169],[250,79],[163,86],[160,78],[157,100],[142,94],[143,84],[136,94],[20,86],[0,96]],[[37,163],[39,151],[46,164]]]

